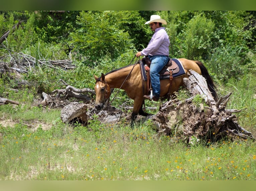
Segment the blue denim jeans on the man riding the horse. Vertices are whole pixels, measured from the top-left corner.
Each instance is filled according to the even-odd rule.
[[[168,56],[164,55],[154,55],[148,56],[151,60],[150,64],[150,78],[151,78],[151,85],[153,90],[153,95],[155,97],[159,97],[160,95],[160,75],[159,72],[163,69],[163,67],[167,64],[169,58]]]

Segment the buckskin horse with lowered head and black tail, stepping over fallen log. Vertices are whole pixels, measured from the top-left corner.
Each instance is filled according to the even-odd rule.
[[[215,85],[208,70],[200,61],[188,60],[185,58],[178,59],[182,64],[185,74],[172,79],[171,89],[169,92],[170,81],[160,80],[160,97],[167,94],[173,94],[179,87],[183,86],[183,78],[188,78],[189,70],[194,70],[202,75],[207,82],[208,88],[212,93],[215,101],[217,101],[217,93]],[[137,62],[138,63],[138,62]],[[105,75],[101,73],[101,77],[94,75],[95,83],[95,108],[101,110],[111,95],[111,89],[118,88],[126,92],[126,94],[134,100],[133,110],[131,114],[131,124],[134,124],[137,115],[148,116],[149,113],[143,111],[144,95],[146,92],[146,82],[143,81],[139,64],[128,65],[119,69],[112,70]],[[144,83],[144,85],[143,85]],[[144,89],[143,89],[144,88]]]

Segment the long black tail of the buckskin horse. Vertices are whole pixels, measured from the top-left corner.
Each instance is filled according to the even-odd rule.
[[[211,76],[209,75],[207,68],[203,65],[202,62],[200,62],[200,61],[195,61],[195,62],[199,66],[199,68],[201,70],[201,73],[202,73],[202,76],[206,79],[207,86],[208,86],[210,92],[212,93],[212,96],[214,97],[214,100],[218,101],[218,95],[215,91],[215,89],[217,89],[217,88],[214,85],[213,80],[212,80]]]

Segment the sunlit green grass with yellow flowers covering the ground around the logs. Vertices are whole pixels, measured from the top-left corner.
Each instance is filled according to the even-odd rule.
[[[230,80],[223,94],[233,93],[227,107],[242,109],[239,123],[255,136],[252,79]],[[156,133],[149,121],[134,128],[98,120],[71,126],[62,123],[60,109],[38,106],[34,90],[3,92],[20,104],[0,106],[0,180],[256,180],[252,140],[187,145]]]

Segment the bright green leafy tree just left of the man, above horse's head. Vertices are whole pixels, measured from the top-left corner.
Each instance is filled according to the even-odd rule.
[[[117,58],[132,47],[129,33],[121,27],[129,22],[125,19],[128,14],[122,11],[82,11],[77,19],[80,28],[71,34],[74,47],[90,62],[104,57]]]

